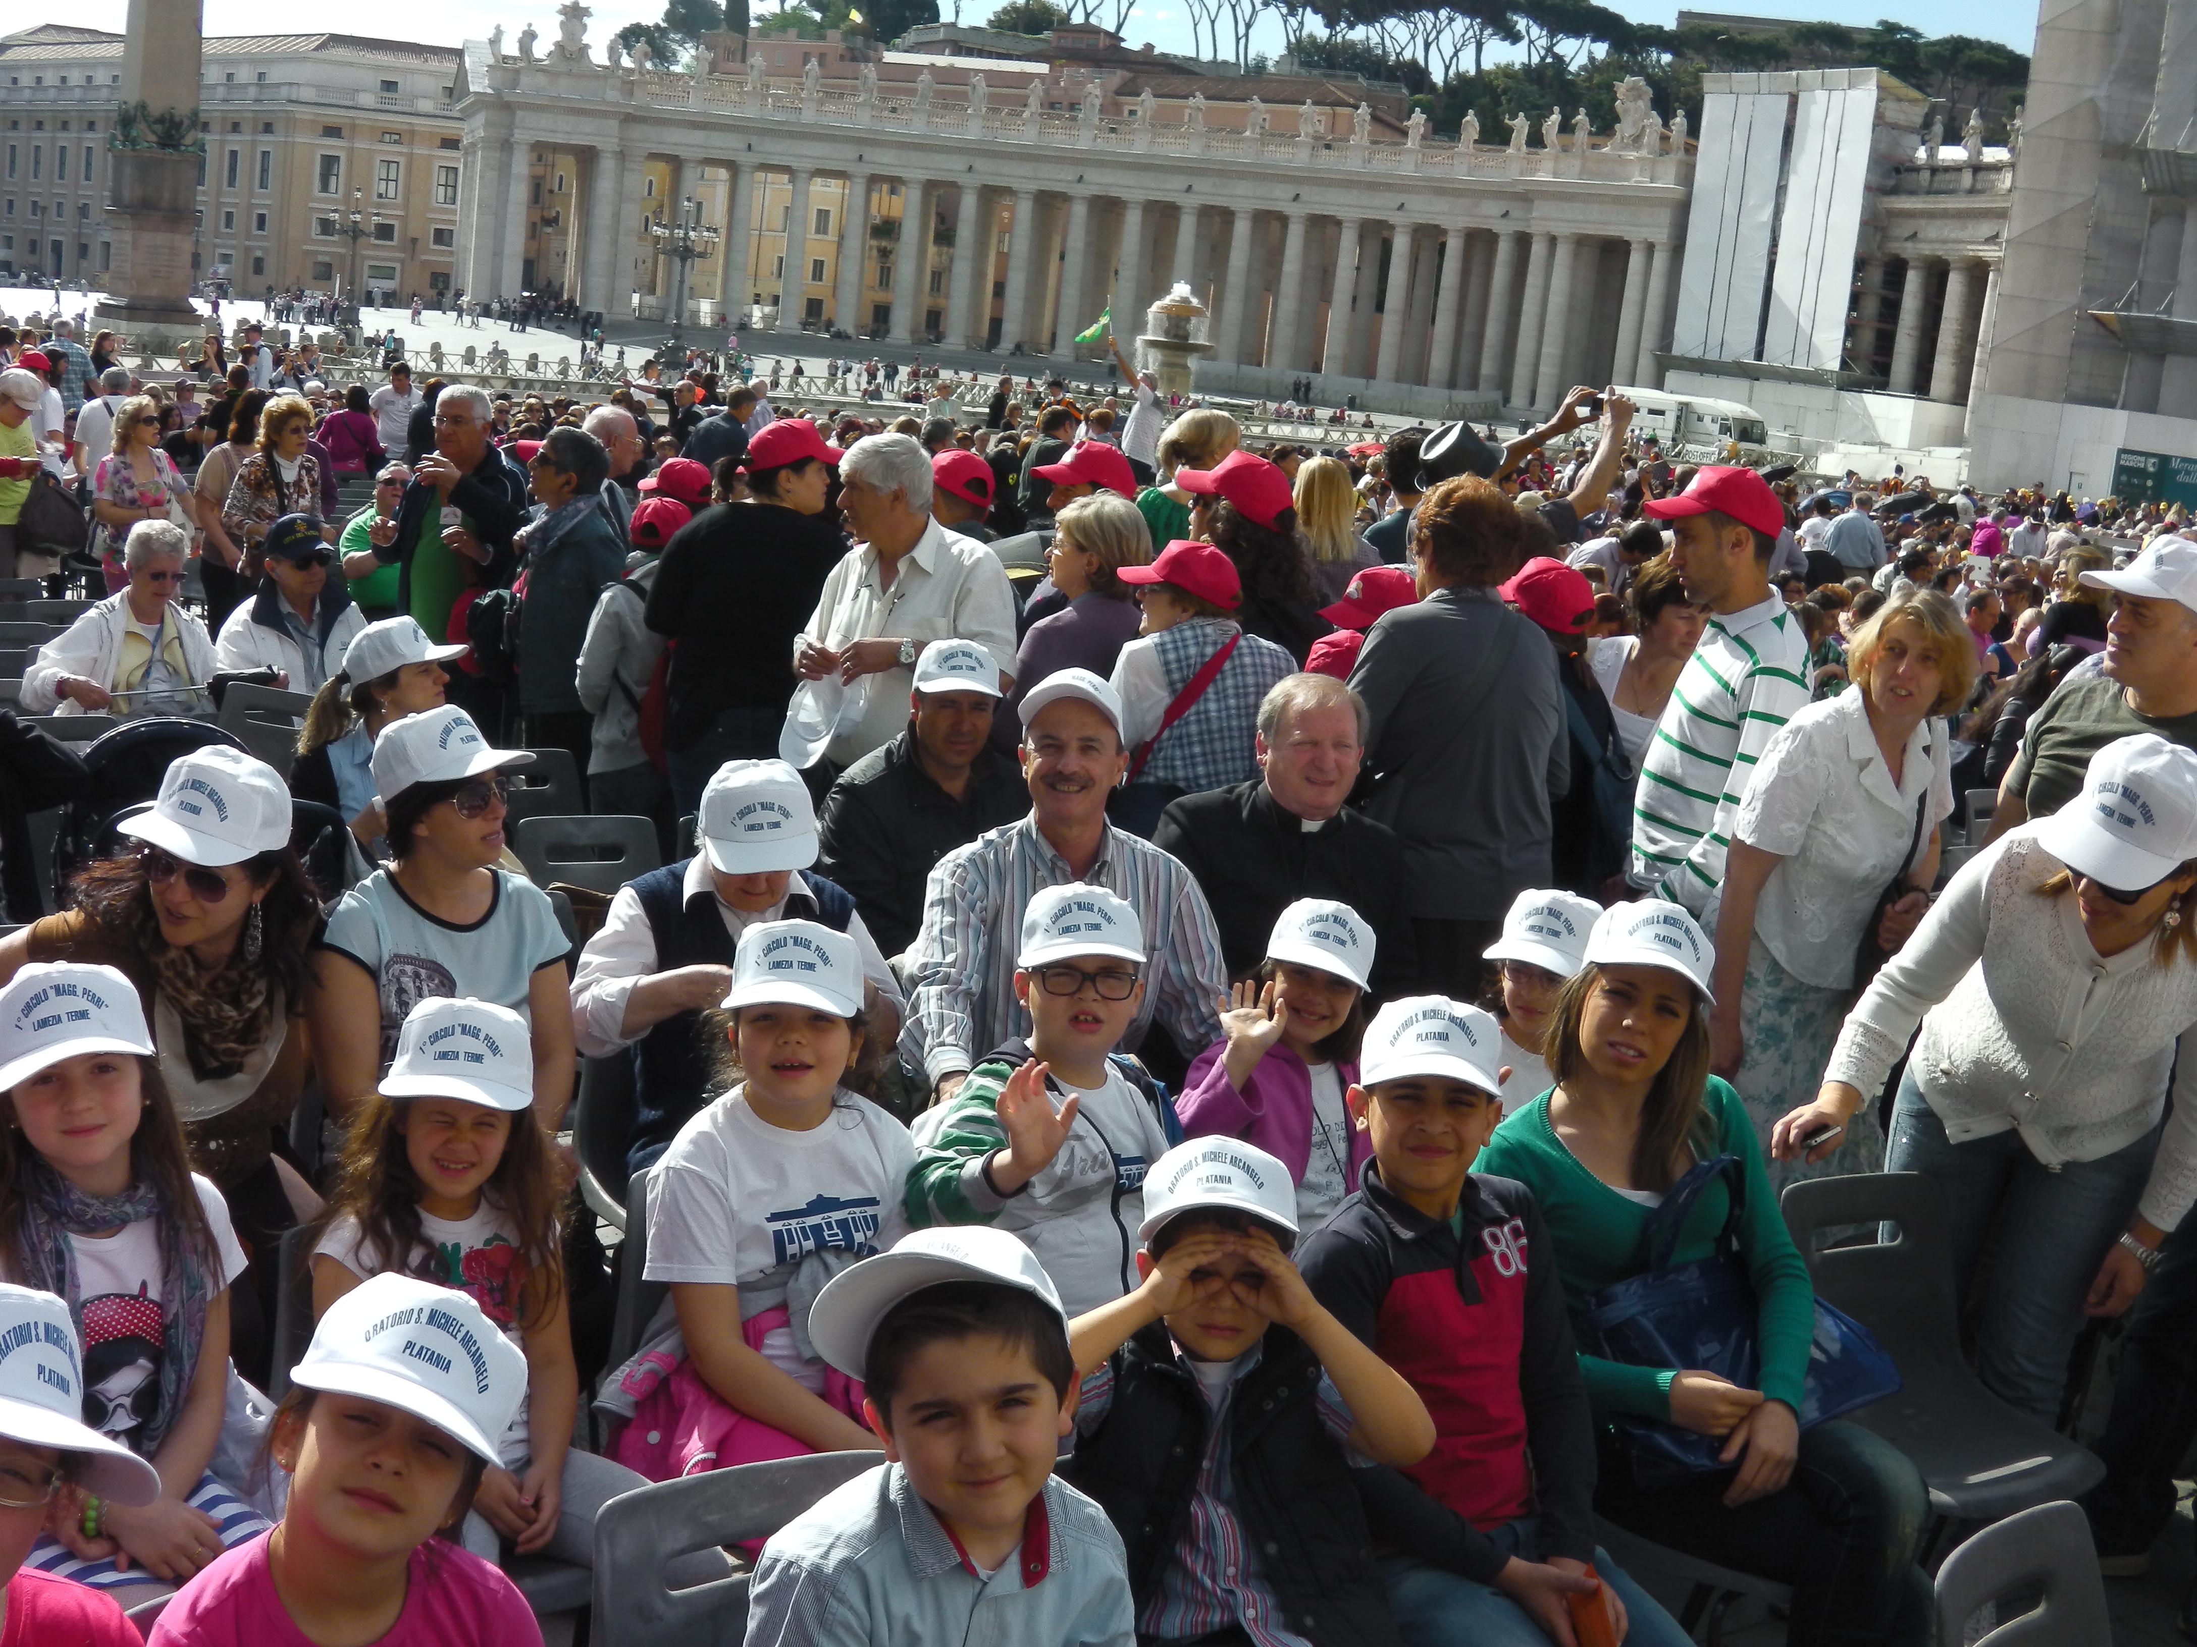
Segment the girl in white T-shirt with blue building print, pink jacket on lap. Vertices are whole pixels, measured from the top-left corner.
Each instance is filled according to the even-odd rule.
[[[749,927],[723,1012],[725,1089],[648,1168],[646,1278],[670,1300],[598,1401],[631,1419],[611,1456],[650,1480],[868,1447],[861,1392],[811,1353],[806,1315],[905,1230],[907,1129],[844,1085],[868,1032],[855,942]]]

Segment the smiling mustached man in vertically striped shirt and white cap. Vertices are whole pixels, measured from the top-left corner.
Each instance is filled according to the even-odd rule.
[[[1022,911],[1039,887],[1105,887],[1145,927],[1145,999],[1120,1045],[1134,1052],[1158,1019],[1191,1058],[1219,1039],[1215,1001],[1228,993],[1222,935],[1186,867],[1105,819],[1105,797],[1129,766],[1120,696],[1090,670],[1061,670],[1022,701],[1022,771],[1030,815],[938,861],[923,889],[923,931],[907,949],[901,1054],[921,1065],[940,1102],[980,1056],[1028,1034],[1015,1001]]]

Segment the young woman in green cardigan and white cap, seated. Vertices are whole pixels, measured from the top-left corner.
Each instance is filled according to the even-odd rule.
[[[1646,900],[1602,914],[1555,997],[1555,1087],[1505,1120],[1479,1170],[1534,1190],[1573,1326],[1595,1293],[1646,1269],[1646,1232],[1696,1164],[1736,1157],[1679,1219],[1670,1265],[1709,1258],[1727,1219],[1755,1293],[1760,1388],[1714,1372],[1580,1355],[1597,1414],[1652,1419],[1725,1443],[1729,1469],[1670,1480],[1632,1467],[1602,1425],[1595,1509],[1657,1544],[1793,1586],[1795,1643],[1925,1647],[1931,1588],[1916,1568],[1929,1500],[1916,1467],[1850,1423],[1799,1410],[1815,1289],[1777,1214],[1738,1094],[1709,1074],[1716,955],[1694,918]]]

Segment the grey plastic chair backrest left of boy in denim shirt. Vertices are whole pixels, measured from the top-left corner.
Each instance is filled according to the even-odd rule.
[[[747,1575],[672,1590],[663,1566],[690,1550],[769,1537],[883,1458],[881,1452],[817,1452],[620,1493],[595,1513],[591,1627],[620,1645],[740,1647]]]

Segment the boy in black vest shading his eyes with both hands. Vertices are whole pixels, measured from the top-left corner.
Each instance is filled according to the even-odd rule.
[[[1417,1465],[1435,1421],[1296,1274],[1298,1195],[1257,1144],[1175,1144],[1145,1179],[1142,1285],[1070,1322],[1066,1476],[1123,1535],[1149,1640],[1395,1643],[1349,1458]]]

